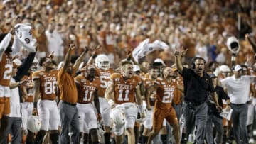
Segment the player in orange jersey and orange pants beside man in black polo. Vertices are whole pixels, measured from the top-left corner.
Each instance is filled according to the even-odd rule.
[[[163,78],[157,78],[154,85],[149,88],[148,92],[156,91],[156,103],[153,112],[153,130],[149,133],[148,144],[159,133],[162,127],[164,118],[174,129],[174,138],[176,143],[180,143],[178,131],[178,118],[174,108],[171,106],[171,101],[178,89],[183,89],[173,81],[174,72],[171,67],[165,67],[163,70]]]

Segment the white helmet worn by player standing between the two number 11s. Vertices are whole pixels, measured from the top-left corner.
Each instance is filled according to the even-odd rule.
[[[100,69],[108,70],[110,69],[110,59],[107,57],[107,55],[98,55],[95,59],[95,65]]]

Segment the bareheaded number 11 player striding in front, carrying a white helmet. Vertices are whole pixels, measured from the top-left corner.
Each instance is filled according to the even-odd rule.
[[[133,63],[122,60],[119,63],[120,73],[111,74],[112,83],[107,87],[105,98],[115,109],[121,109],[125,115],[125,126],[114,125],[114,134],[117,144],[122,143],[124,127],[127,130],[128,143],[134,144],[134,123],[137,118],[137,106],[142,118],[144,118],[142,96],[140,91],[141,79],[133,74]]]

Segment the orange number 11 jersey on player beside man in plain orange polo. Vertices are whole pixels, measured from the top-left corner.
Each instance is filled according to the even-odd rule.
[[[79,74],[77,77],[75,77],[75,83],[78,86],[78,103],[92,103],[95,96],[95,90],[99,89],[100,87],[100,79],[95,77],[95,79],[90,82],[89,80],[85,79],[84,75]]]

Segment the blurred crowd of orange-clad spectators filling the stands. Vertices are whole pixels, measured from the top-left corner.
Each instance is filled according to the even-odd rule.
[[[184,59],[188,63],[191,57],[200,55],[206,61],[217,60],[218,57],[218,62],[229,64],[230,52],[223,49],[229,36],[243,38],[245,33],[250,33],[252,38],[256,38],[255,7],[255,1],[237,0],[5,0],[0,2],[0,16],[4,20],[0,21],[0,33],[6,33],[21,22],[30,23],[38,29],[38,21],[41,21],[42,26],[52,27],[48,30],[58,32],[65,43],[73,41],[79,47],[75,55],[79,55],[85,45],[100,43],[102,52],[107,55],[113,53],[110,55],[112,60],[118,60],[118,57],[125,57],[122,49],[134,49],[142,40],[149,38],[151,41],[162,40],[170,48],[183,45],[188,49]],[[39,27],[36,31],[43,31]],[[46,37],[48,40],[49,37]],[[63,57],[66,44],[57,39],[58,44],[48,40],[46,54],[54,49],[55,55]],[[243,41],[240,39],[241,43]],[[58,46],[50,48],[50,45]],[[246,55],[251,55],[252,50],[250,46],[240,46],[237,62],[244,63]],[[165,61],[169,63],[173,60]]]

